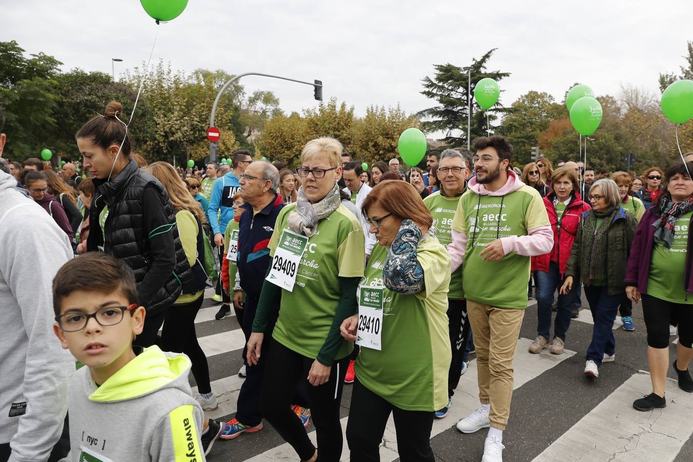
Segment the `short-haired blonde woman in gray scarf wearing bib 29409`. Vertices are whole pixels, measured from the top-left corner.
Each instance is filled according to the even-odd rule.
[[[265,364],[262,413],[301,461],[340,460],[340,400],[353,344],[340,326],[356,312],[356,289],[365,265],[365,236],[341,202],[342,143],[308,141],[301,152],[301,188],[277,216],[270,240],[272,263],[247,343],[247,363],[257,364],[268,317],[279,318]],[[317,447],[292,411],[299,382],[308,376],[308,402]]]

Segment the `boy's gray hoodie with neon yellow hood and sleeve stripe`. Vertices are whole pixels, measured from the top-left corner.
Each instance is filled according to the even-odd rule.
[[[70,454],[62,462],[202,462],[202,408],[190,359],[150,346],[96,387],[88,367],[72,377]]]

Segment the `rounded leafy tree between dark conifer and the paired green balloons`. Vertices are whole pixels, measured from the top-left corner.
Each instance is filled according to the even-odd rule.
[[[567,113],[565,105],[559,105],[543,91],[529,91],[512,103],[498,131],[513,145],[514,162],[528,163],[532,146],[538,146],[539,134],[547,130],[551,121],[565,118]]]

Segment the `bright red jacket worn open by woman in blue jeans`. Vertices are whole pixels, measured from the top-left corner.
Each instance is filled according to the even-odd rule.
[[[548,272],[549,263],[554,262],[558,263],[559,273],[562,275],[565,274],[565,265],[568,264],[570,259],[570,249],[580,225],[580,218],[584,212],[592,207],[583,202],[579,194],[574,193],[570,203],[565,206],[565,211],[563,211],[563,216],[561,217],[561,227],[559,228],[558,214],[554,207],[555,197],[555,193],[544,197],[546,213],[549,215],[551,229],[554,231],[554,248],[548,254],[532,257],[532,271]]]

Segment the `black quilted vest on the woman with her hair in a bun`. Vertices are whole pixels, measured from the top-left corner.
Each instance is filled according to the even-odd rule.
[[[168,216],[168,222],[176,223],[173,207],[168,199],[168,193],[155,177],[143,172],[137,163],[131,160],[117,177],[111,181],[94,179],[96,191],[89,209],[90,227],[87,238],[89,251],[100,250],[125,262],[134,271],[135,281],[139,289],[151,267],[149,240],[143,229],[144,188],[154,187],[161,195],[161,207]],[[104,206],[108,206],[108,217],[105,222],[107,239],[104,242],[99,226],[99,215]],[[155,314],[168,308],[181,294],[182,285],[192,280],[192,270],[188,264],[185,251],[178,237],[178,229],[173,226],[173,242],[175,245],[176,265],[173,273],[163,287],[160,287],[152,300],[145,306],[148,312]]]

